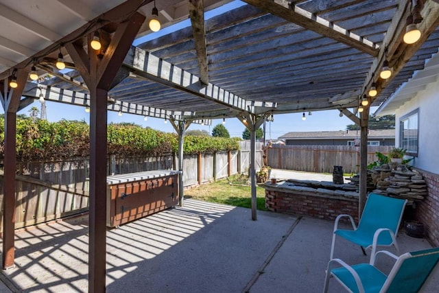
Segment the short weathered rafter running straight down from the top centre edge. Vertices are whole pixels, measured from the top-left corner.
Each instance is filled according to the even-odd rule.
[[[203,0],[189,0],[187,3],[189,6],[189,16],[191,17],[195,51],[197,51],[198,67],[200,67],[200,80],[203,84],[209,84]]]

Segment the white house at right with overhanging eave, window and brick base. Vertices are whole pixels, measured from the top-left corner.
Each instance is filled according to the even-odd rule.
[[[427,226],[427,237],[439,246],[439,54],[414,73],[375,115],[395,114],[397,147],[407,149],[412,165],[427,183],[424,200],[416,204],[416,220]],[[409,156],[409,157],[410,157]]]

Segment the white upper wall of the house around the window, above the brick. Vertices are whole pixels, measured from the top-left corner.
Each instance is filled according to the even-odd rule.
[[[396,110],[395,144],[399,146],[400,118],[419,108],[418,157],[413,165],[420,169],[439,174],[439,81],[428,84],[425,91]]]

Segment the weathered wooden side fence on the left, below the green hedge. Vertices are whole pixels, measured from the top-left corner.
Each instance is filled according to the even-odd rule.
[[[232,174],[248,172],[250,151],[185,155],[183,185],[202,185]],[[257,169],[262,150],[257,149]],[[108,175],[179,169],[178,156],[110,156]],[[15,226],[20,228],[88,210],[88,158],[58,162],[27,162],[17,167]],[[0,169],[0,204],[3,202],[3,170]],[[3,207],[3,204],[1,205]],[[1,223],[1,222],[0,222]],[[0,224],[0,231],[3,226]]]

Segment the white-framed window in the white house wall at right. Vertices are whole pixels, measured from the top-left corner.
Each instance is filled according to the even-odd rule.
[[[410,156],[418,156],[418,119],[419,109],[416,109],[399,121],[399,147],[405,148]]]

